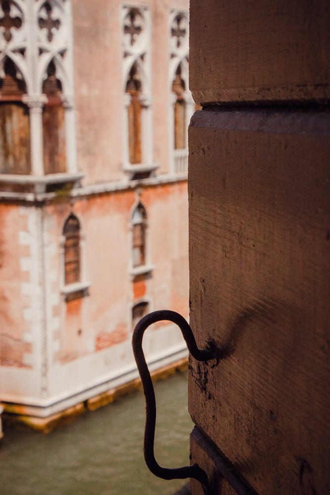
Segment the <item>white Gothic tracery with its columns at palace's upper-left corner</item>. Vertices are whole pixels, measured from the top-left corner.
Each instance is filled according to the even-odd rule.
[[[43,87],[50,65],[60,82],[60,104],[65,108],[66,171],[76,171],[71,2],[0,1],[0,78],[3,81],[7,59],[14,64],[15,77],[26,86],[21,100],[30,112],[32,173],[45,173],[42,111],[49,95],[45,96]],[[3,98],[0,88],[0,99],[3,101]]]

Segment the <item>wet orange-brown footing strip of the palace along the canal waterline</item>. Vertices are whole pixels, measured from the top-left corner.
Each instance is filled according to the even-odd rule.
[[[153,381],[163,380],[178,371],[183,372],[187,369],[188,357],[184,357],[173,363],[162,366],[161,368],[152,371],[150,374]],[[63,411],[51,414],[47,417],[37,417],[27,414],[20,414],[20,411],[22,410],[21,405],[3,403],[4,412],[2,413],[2,420],[3,423],[9,427],[23,425],[35,431],[50,433],[58,426],[72,421],[75,417],[80,416],[87,411],[94,411],[100,407],[110,404],[111,402],[114,402],[137,389],[142,389],[140,378],[135,378],[134,380],[131,380],[125,384],[114,387],[101,394],[97,394],[78,404],[75,404],[74,406],[68,407]],[[2,433],[0,417],[0,438],[1,437]]]

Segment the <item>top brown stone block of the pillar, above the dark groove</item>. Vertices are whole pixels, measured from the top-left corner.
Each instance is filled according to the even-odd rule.
[[[195,101],[329,99],[329,25],[328,0],[191,0]]]

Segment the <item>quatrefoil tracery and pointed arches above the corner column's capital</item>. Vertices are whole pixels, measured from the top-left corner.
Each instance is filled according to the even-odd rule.
[[[27,21],[27,19],[29,19]],[[69,0],[0,0],[0,77],[10,59],[27,94],[42,94],[50,63],[63,95],[73,95],[71,4]]]

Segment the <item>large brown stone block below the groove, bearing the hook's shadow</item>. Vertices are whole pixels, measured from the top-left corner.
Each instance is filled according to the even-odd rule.
[[[260,494],[330,492],[329,122],[203,110],[189,129],[190,324],[222,349],[191,361],[189,412]]]

